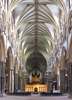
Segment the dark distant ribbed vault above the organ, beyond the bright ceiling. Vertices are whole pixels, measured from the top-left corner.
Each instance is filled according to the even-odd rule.
[[[43,57],[42,54],[40,54],[37,51],[32,53],[27,59],[26,69],[29,73],[34,72],[34,70],[35,71],[39,70],[41,73],[44,73],[46,68],[47,68],[47,63],[45,58]]]

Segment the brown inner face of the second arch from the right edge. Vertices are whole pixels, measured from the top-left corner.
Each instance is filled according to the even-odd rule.
[[[65,47],[62,48],[62,52],[61,52],[61,58],[60,58],[60,69],[63,70],[66,67],[66,49]]]

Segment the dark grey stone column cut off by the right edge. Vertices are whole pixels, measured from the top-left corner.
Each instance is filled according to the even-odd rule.
[[[69,97],[72,98],[72,62],[69,63],[68,65],[68,79],[69,79],[69,87],[68,87],[68,92],[69,92]]]

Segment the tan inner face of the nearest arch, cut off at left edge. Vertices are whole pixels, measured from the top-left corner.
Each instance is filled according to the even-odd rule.
[[[0,35],[0,60],[5,61],[5,42],[3,35]]]

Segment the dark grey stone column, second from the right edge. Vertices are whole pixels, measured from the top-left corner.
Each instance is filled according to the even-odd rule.
[[[60,92],[65,93],[65,70],[60,70]]]

